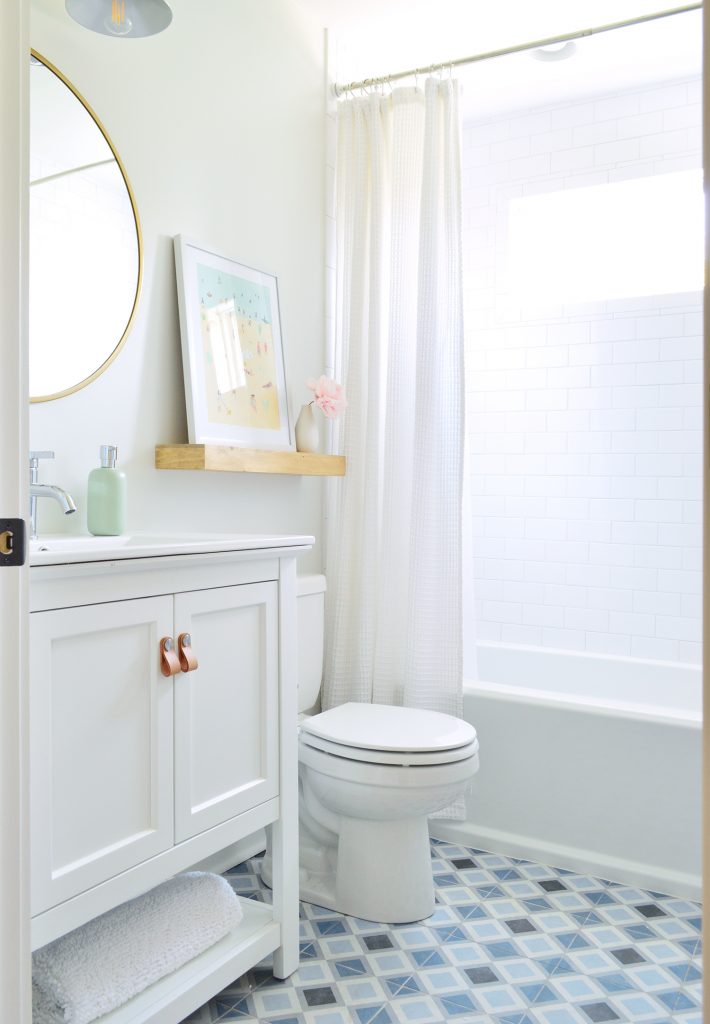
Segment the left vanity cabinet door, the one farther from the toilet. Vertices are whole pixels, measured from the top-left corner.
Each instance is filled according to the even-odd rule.
[[[173,843],[173,598],[30,616],[33,913]]]

